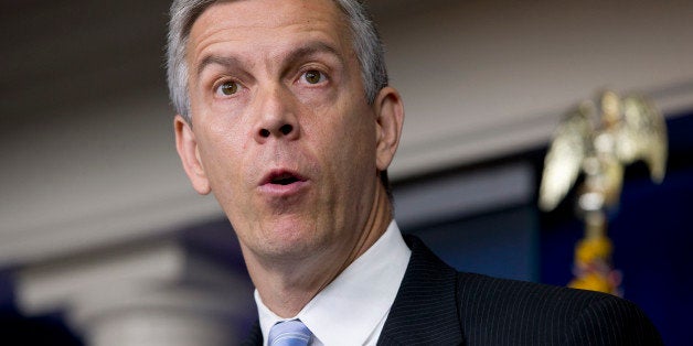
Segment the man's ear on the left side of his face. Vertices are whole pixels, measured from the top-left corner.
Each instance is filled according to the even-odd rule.
[[[183,169],[192,183],[192,187],[201,195],[209,194],[211,192],[210,181],[200,160],[200,149],[198,148],[195,133],[188,121],[180,115],[177,115],[173,120],[173,129],[175,131],[175,149],[183,163]]]

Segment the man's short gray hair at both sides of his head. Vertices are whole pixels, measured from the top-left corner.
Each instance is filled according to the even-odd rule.
[[[195,20],[210,6],[223,0],[174,0],[169,22],[167,76],[169,94],[175,111],[192,125],[188,88],[185,47]],[[373,104],[377,93],[387,86],[384,48],[375,25],[359,0],[332,0],[346,15],[351,29],[353,50],[361,65],[365,98]]]

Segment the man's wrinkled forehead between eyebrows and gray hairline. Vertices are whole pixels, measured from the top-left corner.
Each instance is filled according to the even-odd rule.
[[[237,48],[245,44],[259,52],[307,36],[340,44],[351,41],[349,32],[345,15],[331,0],[221,1],[194,21],[188,57],[194,61],[194,55],[202,51],[230,44]],[[350,45],[341,48],[348,50]]]

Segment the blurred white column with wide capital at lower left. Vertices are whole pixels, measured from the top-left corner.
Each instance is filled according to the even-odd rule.
[[[88,345],[234,345],[253,314],[243,273],[174,240],[124,245],[21,269],[26,314],[66,313]]]

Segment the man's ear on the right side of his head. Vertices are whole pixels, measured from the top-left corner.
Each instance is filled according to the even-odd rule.
[[[384,87],[375,98],[373,108],[376,116],[375,164],[385,171],[395,156],[404,123],[404,104],[395,88]]]

